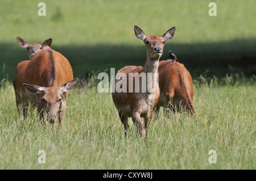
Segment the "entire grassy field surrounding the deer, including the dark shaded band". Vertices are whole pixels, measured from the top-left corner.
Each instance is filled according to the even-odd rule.
[[[0,2],[0,169],[255,169],[256,1],[40,1]],[[154,116],[146,140],[123,125],[110,93],[73,89],[63,128],[44,127],[38,113],[19,117],[11,81],[27,43],[53,39],[52,49],[71,62],[75,77],[144,65],[146,48],[134,25],[162,35],[176,27],[172,49],[191,72],[197,115]],[[94,77],[95,78],[95,77]],[[39,150],[46,164],[39,164]],[[217,164],[209,151],[216,150]]]

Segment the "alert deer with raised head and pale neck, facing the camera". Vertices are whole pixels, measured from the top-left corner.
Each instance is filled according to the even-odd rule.
[[[154,73],[158,74],[159,58],[162,56],[164,43],[172,39],[175,33],[175,27],[172,27],[163,36],[151,35],[147,36],[141,28],[134,26],[135,36],[142,40],[147,48],[146,64],[142,66],[126,66],[118,71],[118,73],[125,74],[124,78],[115,77],[114,86],[117,86],[123,79],[128,79],[129,74],[133,77],[127,82],[127,91],[112,92],[112,98],[115,107],[118,110],[119,118],[125,127],[125,136],[129,130],[128,117],[131,117],[133,123],[137,127],[137,134],[142,137],[147,136],[148,125],[152,119],[152,113],[158,102],[160,91],[158,82],[154,77]],[[144,73],[146,74],[147,84],[152,85],[152,91],[142,91],[143,82],[139,79],[135,85],[135,79]],[[148,81],[149,79],[149,81]],[[129,91],[129,87],[133,86],[133,90]],[[135,91],[135,86],[139,87],[139,91]],[[144,118],[144,128],[141,118]]]

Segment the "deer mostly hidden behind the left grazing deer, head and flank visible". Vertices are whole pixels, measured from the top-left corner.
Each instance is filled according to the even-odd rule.
[[[17,36],[17,41],[20,47],[26,48],[28,52],[28,56],[30,59],[39,51],[43,49],[48,49],[49,46],[52,44],[52,39],[48,39],[44,41],[42,45],[38,43],[31,43],[27,44],[26,41],[21,39],[19,36]],[[29,60],[24,60],[22,62],[19,62],[17,69],[14,74],[13,78],[13,86],[15,90],[15,97],[16,97],[16,106],[19,110],[21,98],[22,98],[22,89],[23,89],[23,77],[24,77],[24,72],[27,68],[27,65],[30,61]],[[20,112],[20,111],[19,111]]]

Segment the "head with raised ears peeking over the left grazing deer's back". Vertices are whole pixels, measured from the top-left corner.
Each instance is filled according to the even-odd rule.
[[[27,49],[28,56],[30,57],[30,59],[34,56],[34,54],[36,54],[40,50],[49,48],[49,46],[51,46],[52,44],[52,39],[44,41],[44,43],[41,45],[38,43],[27,44],[27,42],[21,39],[19,36],[17,36],[17,41],[20,47]]]

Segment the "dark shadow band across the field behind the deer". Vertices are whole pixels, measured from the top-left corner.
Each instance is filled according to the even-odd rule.
[[[27,50],[14,44],[0,44],[0,81],[3,78],[13,80],[16,66],[27,60]],[[86,71],[118,71],[126,65],[141,65],[146,62],[145,45],[69,45],[52,49],[68,58],[74,77],[81,77]],[[166,44],[160,60],[169,58],[172,50],[178,60],[190,71],[192,78],[201,74],[204,77],[225,77],[230,73],[243,73],[250,77],[256,75],[256,38],[232,40],[209,44]]]

